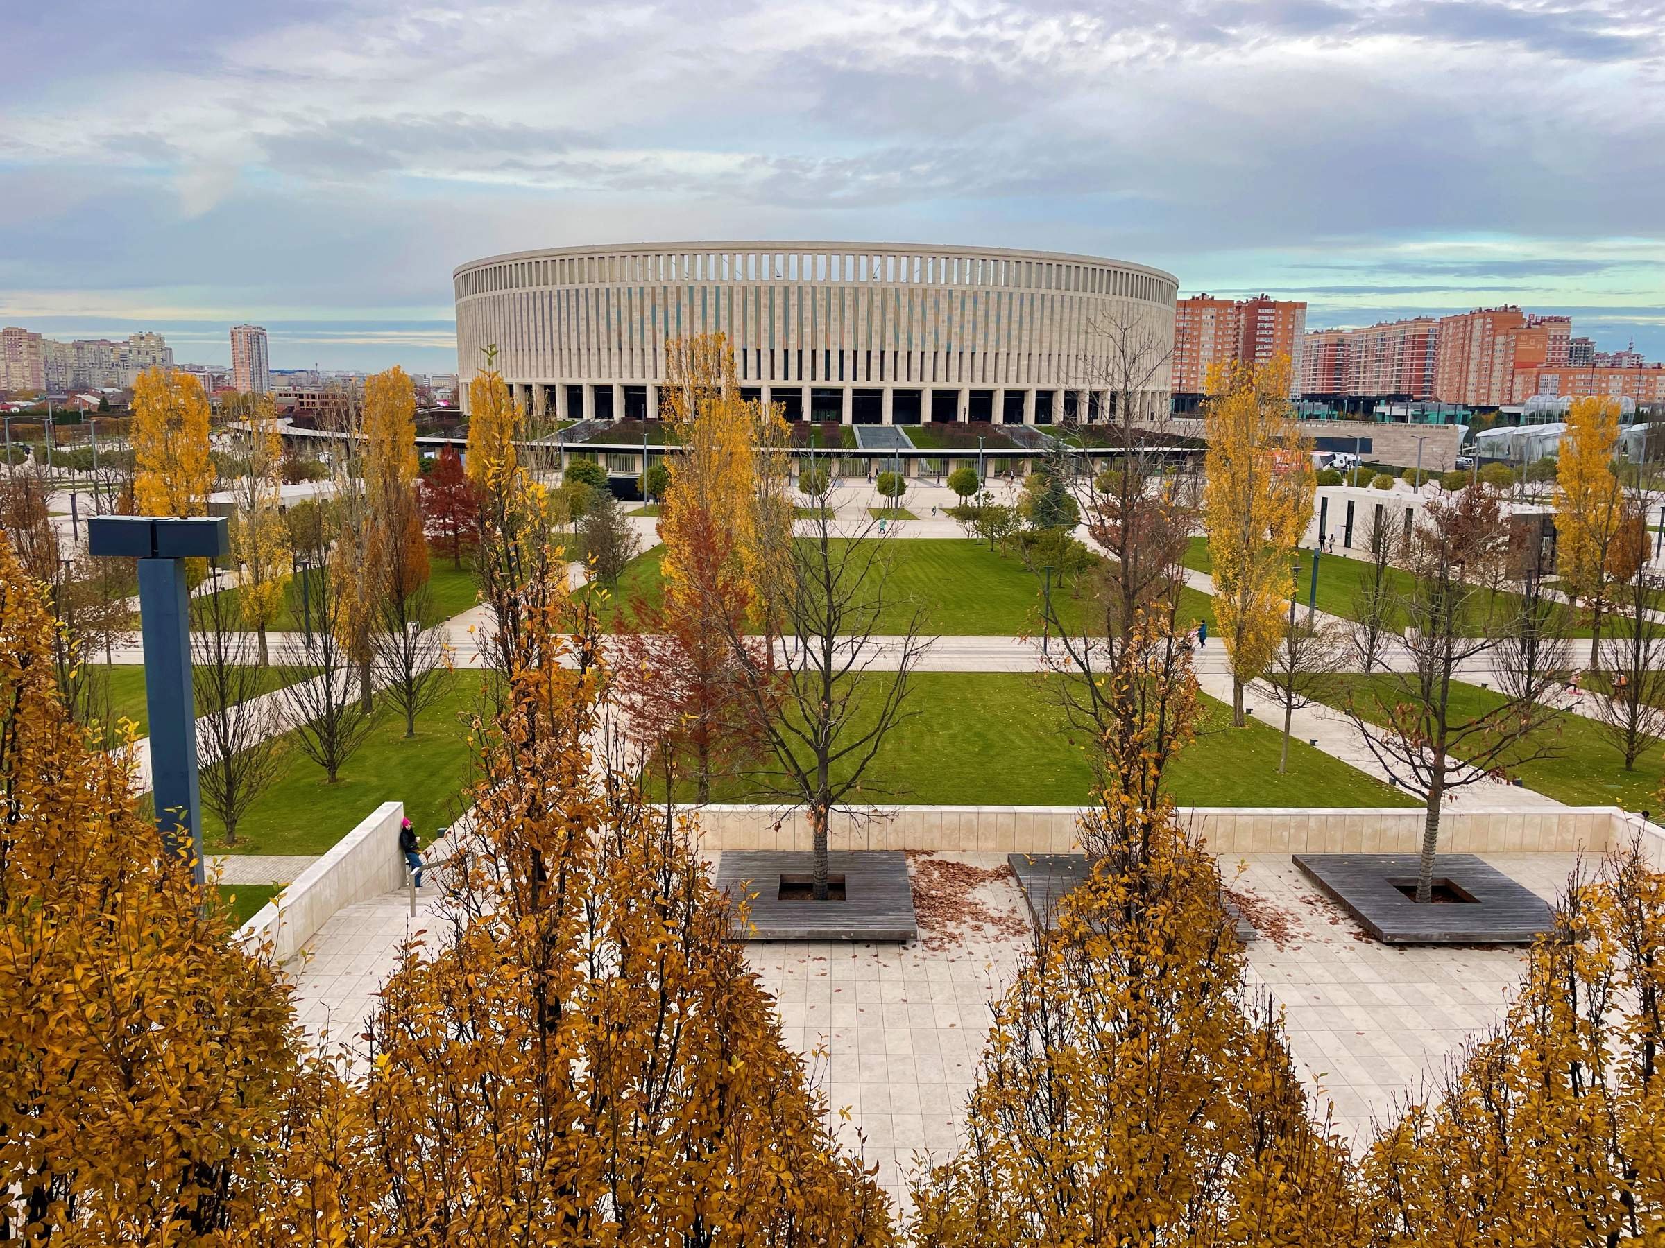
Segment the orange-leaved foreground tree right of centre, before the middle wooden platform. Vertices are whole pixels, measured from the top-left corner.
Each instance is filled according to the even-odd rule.
[[[994,1005],[962,1143],[912,1178],[912,1243],[1362,1243],[1345,1142],[1279,1012],[1242,1002],[1214,857],[1166,795],[1081,835],[1104,852]]]

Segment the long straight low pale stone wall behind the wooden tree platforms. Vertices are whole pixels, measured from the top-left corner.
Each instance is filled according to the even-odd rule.
[[[864,815],[834,815],[831,847],[959,852],[1069,854],[1081,849],[1071,805],[876,805]],[[1420,807],[1182,807],[1179,817],[1214,854],[1415,854]],[[803,810],[708,805],[699,810],[704,849],[809,849]],[[1665,832],[1618,807],[1560,810],[1447,810],[1447,854],[1600,852],[1645,832],[1665,865]]]

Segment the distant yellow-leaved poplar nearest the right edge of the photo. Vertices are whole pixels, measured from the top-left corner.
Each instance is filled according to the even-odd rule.
[[[1613,586],[1633,567],[1618,567],[1627,551],[1625,489],[1613,469],[1618,451],[1618,399],[1592,394],[1567,411],[1555,469],[1555,569],[1567,592],[1590,612],[1590,667],[1597,666],[1602,619]]]

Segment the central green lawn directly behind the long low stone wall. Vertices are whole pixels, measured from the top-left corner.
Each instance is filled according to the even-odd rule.
[[[869,677],[884,679],[884,677]],[[1054,701],[1054,677],[922,672],[906,721],[867,769],[859,800],[924,805],[1081,805],[1092,790],[1086,734]],[[1170,764],[1180,805],[1410,805],[1405,794],[1265,724],[1230,727],[1230,707],[1204,697],[1197,739]],[[771,800],[754,784],[719,782],[714,800]]]

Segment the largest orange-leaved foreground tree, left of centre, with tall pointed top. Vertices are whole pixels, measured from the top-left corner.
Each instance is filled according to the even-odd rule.
[[[564,639],[561,581],[541,597],[453,834],[445,940],[405,950],[366,1028],[376,1226],[889,1248],[887,1201],[836,1148],[689,829],[598,767],[594,637]]]

